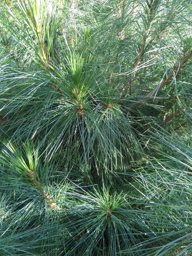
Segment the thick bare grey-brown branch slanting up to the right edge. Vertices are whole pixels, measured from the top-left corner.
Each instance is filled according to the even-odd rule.
[[[180,58],[180,62],[176,65],[176,67],[174,69],[172,69],[169,73],[169,75],[167,75],[167,78],[165,80],[162,80],[162,82],[150,93],[148,93],[147,95],[145,95],[144,97],[140,98],[140,100],[134,104],[132,104],[131,106],[129,106],[128,108],[125,108],[124,111],[125,112],[129,112],[129,110],[131,109],[135,109],[138,106],[140,106],[144,101],[146,101],[147,99],[158,99],[159,97],[155,97],[155,95],[158,93],[159,90],[161,90],[164,86],[166,86],[166,84],[179,72],[182,70],[182,66],[191,58],[192,56],[192,49],[189,50],[188,54],[186,56],[182,56]]]

